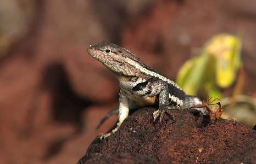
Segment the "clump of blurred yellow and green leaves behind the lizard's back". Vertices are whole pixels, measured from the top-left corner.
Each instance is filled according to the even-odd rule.
[[[188,95],[198,91],[221,98],[220,88],[230,87],[241,67],[241,39],[218,34],[205,44],[201,55],[188,60],[180,69],[176,83]]]

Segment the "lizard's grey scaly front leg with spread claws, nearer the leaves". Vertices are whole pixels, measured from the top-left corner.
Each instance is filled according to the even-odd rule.
[[[169,89],[167,83],[164,84],[159,93],[159,109],[153,113],[154,121],[160,116],[159,120],[162,122],[164,113],[168,113],[172,118],[170,109],[180,109],[179,106],[169,106]]]

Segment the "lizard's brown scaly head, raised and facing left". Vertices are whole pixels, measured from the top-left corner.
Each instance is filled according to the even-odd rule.
[[[140,59],[129,50],[107,41],[101,41],[87,49],[88,54],[103,63],[115,74],[133,75],[135,67],[131,67],[132,62],[141,62]],[[141,63],[143,64],[143,63]]]

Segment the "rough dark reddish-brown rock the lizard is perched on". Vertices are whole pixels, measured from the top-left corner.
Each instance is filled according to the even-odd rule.
[[[251,128],[235,120],[210,120],[198,110],[173,110],[175,121],[165,115],[161,124],[153,121],[155,109],[137,110],[114,135],[94,139],[78,163],[256,162]]]

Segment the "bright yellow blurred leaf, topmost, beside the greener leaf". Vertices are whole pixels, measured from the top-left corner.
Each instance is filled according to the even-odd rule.
[[[241,39],[230,34],[218,34],[205,46],[204,53],[216,58],[216,84],[230,87],[240,67]]]

